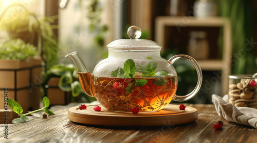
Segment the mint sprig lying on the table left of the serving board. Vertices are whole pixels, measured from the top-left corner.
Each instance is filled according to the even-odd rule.
[[[12,123],[23,123],[23,122],[26,122],[26,121],[29,120],[29,118],[26,117],[26,115],[29,115],[29,114],[34,113],[34,112],[42,111],[42,110],[44,110],[49,115],[54,115],[54,113],[48,109],[48,107],[50,105],[50,101],[49,101],[49,99],[47,97],[43,98],[43,104],[44,104],[43,108],[31,111],[31,112],[26,113],[26,114],[22,113],[23,112],[22,106],[19,103],[17,103],[16,101],[8,98],[7,99],[7,103],[8,103],[8,105],[12,108],[12,110],[15,113],[17,113],[17,114],[19,114],[21,116],[19,118],[14,118],[12,120]]]

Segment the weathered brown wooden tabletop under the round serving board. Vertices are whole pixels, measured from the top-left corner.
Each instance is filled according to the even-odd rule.
[[[198,110],[193,123],[158,127],[108,127],[82,125],[67,118],[72,103],[53,106],[47,119],[30,116],[26,123],[9,124],[8,139],[1,124],[0,142],[257,142],[257,129],[230,123],[217,115],[214,105],[188,104]],[[223,130],[213,124],[224,123]]]

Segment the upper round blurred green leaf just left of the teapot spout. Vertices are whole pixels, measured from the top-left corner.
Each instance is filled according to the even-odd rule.
[[[72,83],[72,76],[70,72],[67,72],[66,74],[62,75],[60,81],[59,81],[59,88],[61,88],[63,91],[70,91],[71,90],[71,83]]]

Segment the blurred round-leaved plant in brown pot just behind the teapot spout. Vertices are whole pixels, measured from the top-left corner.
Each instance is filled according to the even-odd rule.
[[[43,81],[45,95],[51,105],[66,105],[70,102],[92,102],[82,90],[77,70],[74,65],[55,65],[47,71],[47,79]]]

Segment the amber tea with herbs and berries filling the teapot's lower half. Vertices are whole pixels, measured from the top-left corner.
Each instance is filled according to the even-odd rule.
[[[89,80],[91,76],[91,80]],[[95,77],[79,73],[83,90],[93,92],[101,105],[108,110],[130,112],[138,107],[140,112],[157,111],[173,99],[177,89],[177,77],[116,78]],[[85,82],[94,82],[90,89]]]

